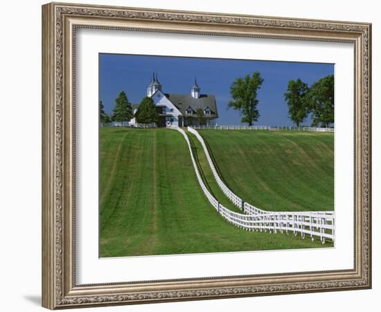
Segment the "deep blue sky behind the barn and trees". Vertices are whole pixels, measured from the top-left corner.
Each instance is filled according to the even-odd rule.
[[[105,111],[112,113],[115,98],[121,91],[131,103],[140,103],[157,72],[164,93],[190,94],[195,76],[201,94],[214,94],[220,125],[240,125],[240,112],[227,110],[233,80],[259,71],[264,78],[258,90],[260,117],[255,125],[293,125],[283,94],[291,79],[301,78],[311,85],[333,74],[333,64],[226,60],[214,58],[180,58],[151,55],[99,55],[99,99]],[[310,119],[304,124],[309,125]]]

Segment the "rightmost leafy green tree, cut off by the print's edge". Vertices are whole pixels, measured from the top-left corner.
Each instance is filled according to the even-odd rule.
[[[326,128],[334,123],[334,78],[328,75],[317,80],[310,87],[307,94],[307,101],[312,113],[312,124],[320,123]]]

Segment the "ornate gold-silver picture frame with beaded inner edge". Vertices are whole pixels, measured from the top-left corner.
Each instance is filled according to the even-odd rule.
[[[78,284],[76,33],[81,28],[354,46],[351,269]],[[354,87],[353,87],[354,86]],[[42,6],[42,306],[48,309],[371,288],[371,24],[48,3]],[[97,209],[97,208],[96,208]]]

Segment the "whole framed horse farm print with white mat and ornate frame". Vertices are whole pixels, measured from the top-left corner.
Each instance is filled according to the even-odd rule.
[[[371,24],[42,7],[42,304],[371,287]]]

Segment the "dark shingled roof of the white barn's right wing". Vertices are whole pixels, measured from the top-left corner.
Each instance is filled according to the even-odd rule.
[[[213,95],[200,94],[200,98],[193,98],[190,94],[166,94],[166,97],[184,116],[196,117],[197,108],[201,107],[204,110],[206,107],[209,107],[211,114],[207,115],[207,117],[218,118],[217,104],[215,103],[215,96]],[[188,106],[193,109],[192,115],[186,114]]]

